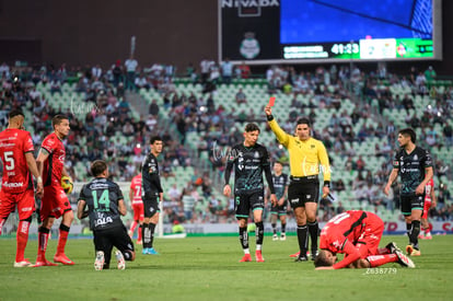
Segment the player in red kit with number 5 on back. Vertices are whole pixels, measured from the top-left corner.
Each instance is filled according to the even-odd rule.
[[[0,189],[0,235],[4,222],[18,206],[19,227],[14,267],[32,265],[24,258],[32,213],[35,211],[32,174],[37,181],[36,195],[39,197],[43,194],[43,180],[36,166],[33,140],[30,132],[23,130],[24,118],[21,111],[11,111],[8,128],[0,132],[0,158],[3,162]]]

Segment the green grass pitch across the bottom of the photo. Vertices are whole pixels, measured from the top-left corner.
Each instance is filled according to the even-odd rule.
[[[255,238],[251,235],[254,256]],[[407,238],[384,236],[403,250]],[[49,242],[51,259],[57,241]],[[15,239],[0,240],[0,300],[451,300],[453,235],[421,241],[422,256],[415,269],[387,264],[375,269],[314,270],[313,262],[294,263],[297,238],[272,242],[265,238],[265,263],[239,263],[239,239],[158,239],[161,255],[142,255],[126,270],[93,268],[90,239],[69,240],[67,255],[74,266],[14,268]],[[25,257],[35,261],[37,241],[28,242]]]

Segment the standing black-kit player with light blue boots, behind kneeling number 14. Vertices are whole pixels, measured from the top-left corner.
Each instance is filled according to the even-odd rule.
[[[151,151],[141,164],[141,199],[143,200],[144,219],[141,228],[143,242],[142,254],[159,254],[152,246],[154,230],[159,221],[159,202],[163,200],[163,189],[159,175],[158,157],[162,152],[162,138],[150,139]]]

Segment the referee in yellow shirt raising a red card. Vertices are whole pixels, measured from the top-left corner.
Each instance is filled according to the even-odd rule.
[[[311,137],[310,120],[300,118],[295,136],[284,132],[274,119],[271,105],[265,107],[268,125],[278,141],[288,149],[290,157],[290,185],[288,199],[294,210],[298,223],[299,255],[295,262],[306,262],[309,233],[312,241],[312,259],[317,252],[318,224],[316,220],[320,195],[318,174],[323,172],[323,196],[330,192],[330,165],[323,142]]]

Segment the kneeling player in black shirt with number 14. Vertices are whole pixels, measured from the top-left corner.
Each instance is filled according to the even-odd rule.
[[[136,253],[120,218],[120,215],[127,213],[121,189],[118,184],[107,178],[108,167],[105,161],[94,161],[91,164],[91,173],[94,178],[83,185],[80,192],[77,216],[79,219],[90,217],[96,253],[94,268],[109,268],[112,250],[115,246],[118,269],[125,269],[125,261],[133,261]]]

